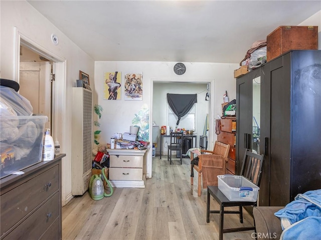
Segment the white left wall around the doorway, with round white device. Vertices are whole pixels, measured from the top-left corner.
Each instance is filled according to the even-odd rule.
[[[94,61],[82,49],[67,38],[47,18],[36,11],[27,1],[0,1],[1,10],[1,77],[14,79],[14,27],[37,46],[65,61],[65,76],[56,79],[57,115],[59,116],[58,140],[61,152],[67,155],[62,160],[63,204],[71,199],[71,96],[72,87],[79,78],[79,70],[90,75],[94,83]],[[51,34],[59,37],[59,44],[51,42]]]

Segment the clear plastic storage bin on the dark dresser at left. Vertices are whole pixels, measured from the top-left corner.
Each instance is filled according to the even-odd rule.
[[[0,178],[41,161],[47,116],[1,117]]]

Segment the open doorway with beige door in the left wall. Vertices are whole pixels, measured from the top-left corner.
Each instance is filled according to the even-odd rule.
[[[62,118],[59,114],[62,113],[58,113],[57,108],[65,98],[65,60],[54,56],[18,31],[16,34],[14,72],[21,85],[19,93],[31,101],[34,114],[48,116],[46,128],[51,129],[54,140],[63,141],[62,130],[58,127],[58,119]]]

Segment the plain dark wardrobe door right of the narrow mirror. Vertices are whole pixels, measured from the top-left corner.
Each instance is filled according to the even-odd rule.
[[[270,81],[270,205],[283,206],[289,202],[291,181],[290,53],[271,62]]]

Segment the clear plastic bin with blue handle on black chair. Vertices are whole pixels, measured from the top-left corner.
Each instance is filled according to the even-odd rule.
[[[230,201],[256,201],[259,187],[239,175],[218,175],[218,187]]]

